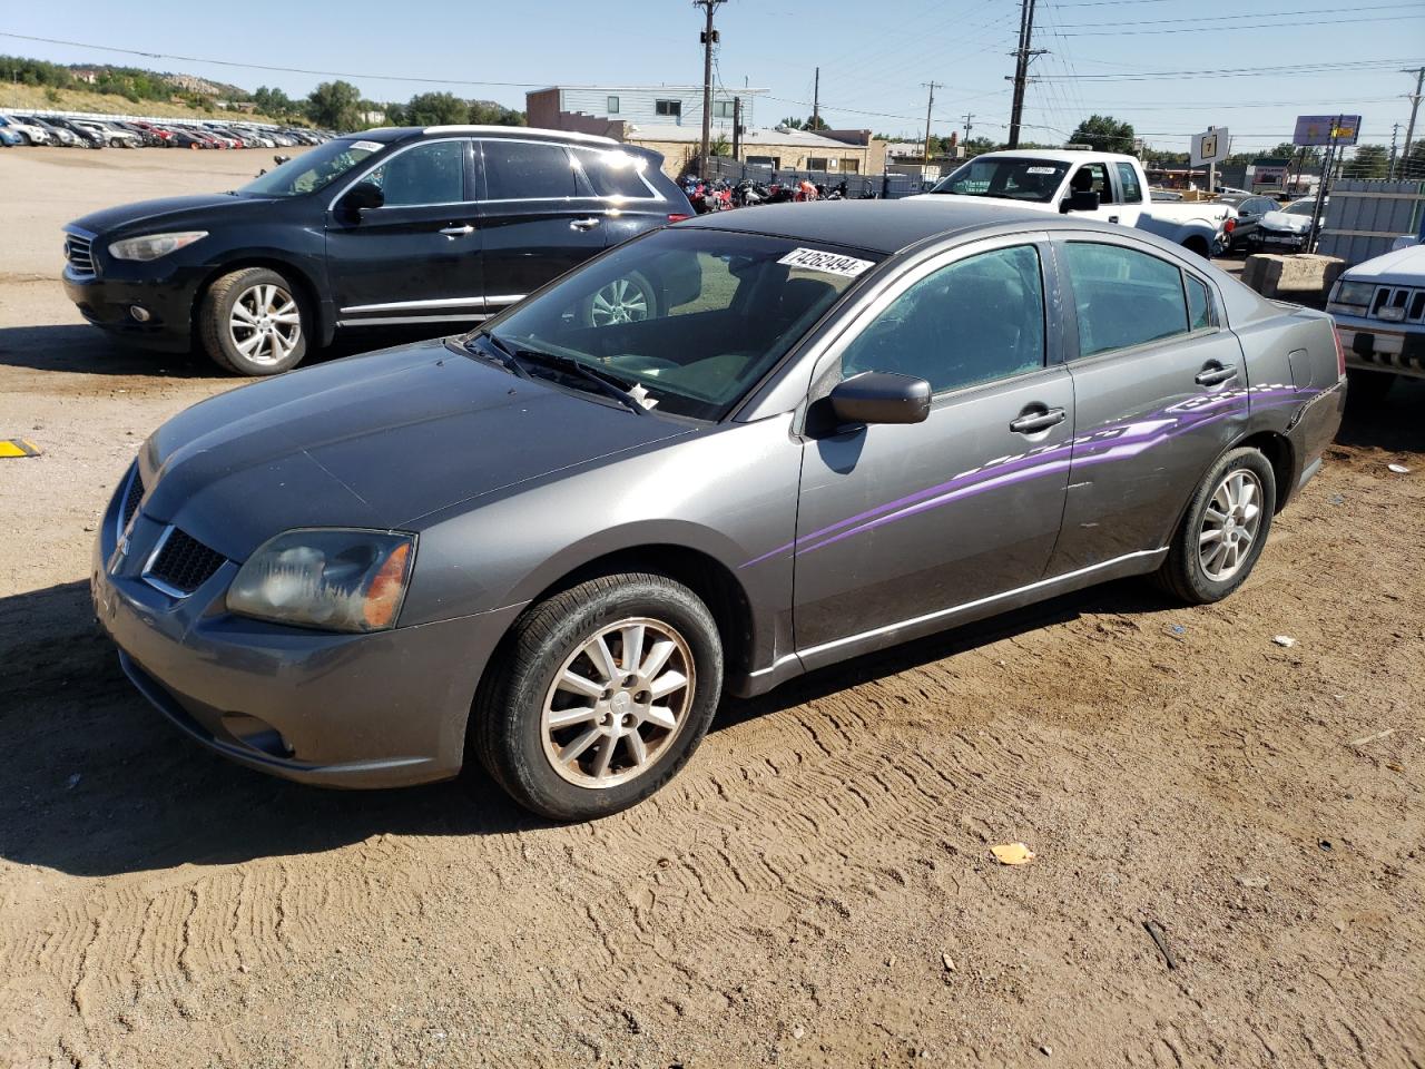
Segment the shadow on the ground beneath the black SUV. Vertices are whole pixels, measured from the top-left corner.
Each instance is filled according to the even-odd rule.
[[[439,325],[437,325],[439,326]],[[453,334],[432,326],[369,329],[341,335],[311,353],[302,366],[386,349],[428,338]],[[161,375],[171,379],[244,379],[229,375],[200,351],[154,352],[111,338],[84,324],[0,328],[0,368],[30,368],[80,375]]]

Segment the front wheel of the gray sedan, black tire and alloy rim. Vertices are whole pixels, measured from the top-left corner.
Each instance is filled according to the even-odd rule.
[[[589,653],[596,640],[603,667]],[[722,690],[722,641],[681,583],[610,574],[533,606],[493,667],[472,710],[466,767],[479,761],[542,817],[593,820],[647,798],[697,750]],[[576,687],[560,683],[570,677]],[[566,723],[551,723],[560,714]]]

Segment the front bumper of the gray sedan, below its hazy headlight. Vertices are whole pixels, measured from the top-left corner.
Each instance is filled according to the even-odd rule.
[[[248,768],[328,787],[447,780],[465,760],[480,674],[519,607],[372,634],[227,613],[227,562],[188,597],[140,572],[165,525],[140,512],[117,556],[115,499],[90,586],[128,678],[190,738]]]

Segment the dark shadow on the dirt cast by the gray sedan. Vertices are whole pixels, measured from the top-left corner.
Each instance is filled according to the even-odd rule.
[[[714,731],[1083,611],[1154,611],[1141,584],[1094,592],[868,654],[755,700]],[[275,780],[180,735],[133,688],[93,621],[87,583],[0,599],[0,857],[105,877],[314,854],[373,835],[504,835],[549,827],[483,774],[462,783],[333,791]]]

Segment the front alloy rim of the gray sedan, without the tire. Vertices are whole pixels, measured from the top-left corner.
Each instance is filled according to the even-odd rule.
[[[683,731],[695,686],[677,629],[650,617],[608,624],[564,660],[544,697],[544,755],[579,787],[636,780]]]

